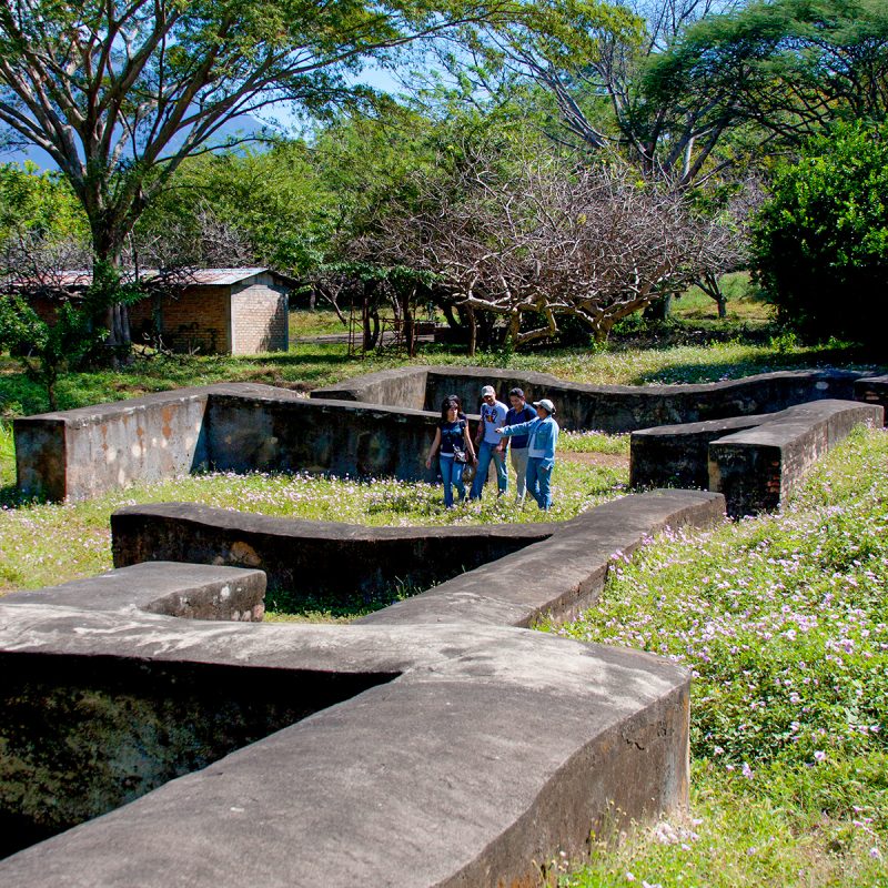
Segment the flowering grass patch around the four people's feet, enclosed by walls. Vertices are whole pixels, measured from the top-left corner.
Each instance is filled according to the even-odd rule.
[[[628,436],[565,436],[564,446],[586,453],[625,453]],[[481,503],[447,511],[440,485],[269,473],[208,473],[135,485],[82,503],[21,504],[16,501],[14,458],[7,431],[0,433],[0,595],[109,569],[109,516],[124,505],[194,502],[263,515],[375,526],[495,524],[566,521],[622,495],[627,482],[627,465],[562,460],[554,475],[555,505],[549,513],[539,512],[529,500],[518,508],[511,496],[497,500],[491,495]],[[392,594],[408,592],[394,589]],[[387,603],[381,599],[374,604]],[[319,618],[317,613],[310,616]]]

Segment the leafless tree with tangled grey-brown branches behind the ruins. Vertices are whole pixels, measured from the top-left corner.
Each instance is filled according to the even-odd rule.
[[[427,185],[420,210],[353,249],[426,272],[470,319],[505,317],[516,346],[557,334],[564,317],[604,340],[617,321],[686,283],[699,261],[704,232],[682,196],[618,164],[537,158],[503,178],[482,152],[458,186]]]

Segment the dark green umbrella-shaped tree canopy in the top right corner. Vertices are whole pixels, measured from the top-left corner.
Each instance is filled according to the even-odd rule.
[[[797,143],[837,120],[885,119],[887,78],[881,0],[757,0],[704,19],[652,57],[644,90],[674,115],[703,102],[700,123],[754,122],[770,141]]]

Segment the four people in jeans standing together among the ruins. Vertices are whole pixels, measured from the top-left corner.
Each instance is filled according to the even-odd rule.
[[[437,455],[447,508],[454,505],[454,487],[460,501],[465,500],[463,473],[467,465],[475,466],[470,500],[481,498],[491,463],[500,496],[504,496],[508,492],[506,453],[515,470],[516,502],[523,503],[529,493],[539,508],[552,507],[552,470],[558,442],[555,405],[544,397],[534,401],[531,407],[521,389],[513,389],[508,400],[511,407],[497,401],[492,385],[481,390],[481,423],[473,441],[460,398],[456,395],[444,398],[425,465],[431,468]]]

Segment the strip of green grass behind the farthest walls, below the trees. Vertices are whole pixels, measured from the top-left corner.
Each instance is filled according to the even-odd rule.
[[[660,335],[660,334],[657,334]],[[789,340],[755,343],[741,340],[712,342],[705,334],[685,342],[687,330],[666,331],[660,340],[646,335],[643,346],[613,343],[607,350],[583,347],[532,352],[482,352],[468,357],[448,346],[425,345],[416,359],[372,354],[349,357],[344,344],[296,344],[287,354],[248,357],[139,356],[119,371],[64,373],[58,383],[60,410],[137,397],[148,392],[219,382],[260,382],[307,391],[377,370],[404,365],[480,365],[539,371],[572,382],[643,385],[738,379],[754,373],[808,366],[848,366],[855,355],[847,349],[800,346]],[[678,340],[676,344],[675,340]],[[877,372],[872,364],[862,369]],[[49,410],[46,392],[26,377],[19,364],[0,356],[0,416],[30,415]]]

